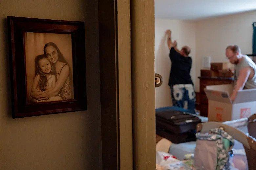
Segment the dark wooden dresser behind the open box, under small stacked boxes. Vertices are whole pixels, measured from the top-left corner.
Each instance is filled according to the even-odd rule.
[[[196,109],[200,110],[201,116],[208,117],[208,99],[204,93],[205,86],[232,84],[234,78],[227,77],[198,77],[200,79],[200,92],[196,92]]]

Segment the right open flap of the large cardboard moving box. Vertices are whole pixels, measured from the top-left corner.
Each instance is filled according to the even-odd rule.
[[[238,91],[236,99],[233,103],[245,103],[251,101],[256,101],[256,89]]]

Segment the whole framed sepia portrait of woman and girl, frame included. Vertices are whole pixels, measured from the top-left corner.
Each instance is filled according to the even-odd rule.
[[[87,110],[84,22],[7,19],[12,117]]]

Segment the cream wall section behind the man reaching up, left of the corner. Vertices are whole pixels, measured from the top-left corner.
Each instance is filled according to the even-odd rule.
[[[179,49],[184,45],[191,47],[191,77],[194,82],[196,79],[195,62],[193,62],[196,49],[195,28],[195,22],[155,19],[155,73],[163,77],[163,84],[156,88],[156,108],[172,105],[170,87],[168,86],[171,61],[165,31],[166,29],[172,30],[172,40],[177,40]]]

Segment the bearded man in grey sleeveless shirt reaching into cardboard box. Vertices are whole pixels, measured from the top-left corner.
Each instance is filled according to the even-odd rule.
[[[226,57],[235,65],[235,89],[231,95],[234,101],[239,90],[256,88],[256,65],[248,56],[241,54],[237,45],[226,47]]]

